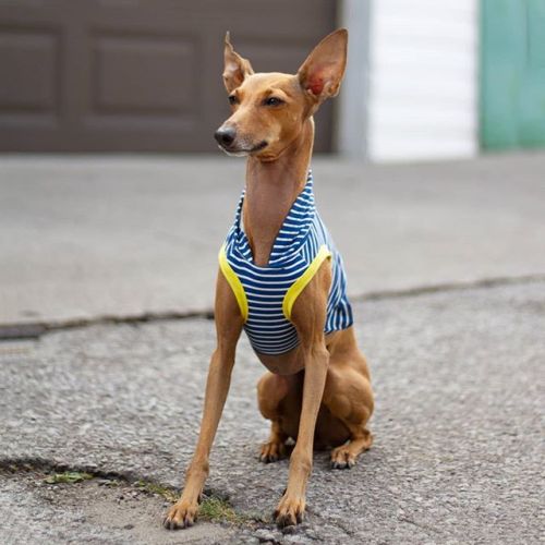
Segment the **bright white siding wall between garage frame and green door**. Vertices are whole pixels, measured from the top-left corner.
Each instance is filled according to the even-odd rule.
[[[477,0],[373,0],[367,156],[477,150]]]

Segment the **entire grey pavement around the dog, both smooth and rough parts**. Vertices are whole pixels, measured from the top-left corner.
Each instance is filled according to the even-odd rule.
[[[264,367],[243,338],[205,489],[238,523],[172,533],[135,483],[179,491],[193,453],[243,161],[0,158],[0,543],[543,542],[545,154],[313,167],[375,443],[350,471],[316,452],[304,523],[277,530],[288,461],[257,460]],[[46,483],[56,468],[96,479]]]

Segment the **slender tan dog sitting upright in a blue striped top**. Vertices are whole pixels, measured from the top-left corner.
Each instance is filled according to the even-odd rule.
[[[226,244],[237,237],[243,241],[241,252],[250,256],[246,266],[256,271],[257,279],[271,270],[290,269],[274,268],[274,256],[283,240],[280,234],[289,233],[288,219],[306,214],[299,214],[301,203],[307,210],[314,210],[312,181],[307,181],[314,140],[312,116],[339,90],[347,41],[346,29],[330,34],[295,75],[254,74],[250,62],[234,51],[229,35],[226,37],[223,81],[233,111],[216,138],[226,152],[249,157],[246,190],[238,215],[240,223],[235,223]],[[289,235],[296,239],[296,234]],[[334,468],[351,468],[356,457],[371,447],[373,438],[366,428],[373,412],[370,373],[356,346],[348,301],[337,305],[339,312],[344,312],[344,318],[350,319],[344,322],[346,327],[339,327],[342,320],[338,316],[330,319],[334,286],[341,274],[336,267],[341,262],[327,244],[323,246],[316,255],[311,255],[302,276],[290,280],[292,284],[282,295],[284,317],[277,320],[279,327],[287,327],[287,332],[270,341],[263,340],[263,334],[267,328],[275,330],[276,322],[257,319],[261,315],[256,305],[262,301],[267,310],[266,305],[274,303],[266,298],[274,295],[258,293],[257,299],[252,299],[253,284],[237,270],[237,257],[230,258],[223,246],[216,287],[217,349],[208,372],[201,434],[183,494],[169,510],[166,528],[190,526],[196,518],[243,328],[261,362],[269,370],[257,385],[259,410],[271,421],[270,437],[262,447],[261,460],[278,460],[286,452],[286,440],[289,437],[296,440],[288,487],[275,513],[279,525],[296,524],[303,518],[314,444],[334,447]],[[281,352],[281,347],[286,347],[281,343],[292,334],[296,346]],[[275,350],[279,347],[280,353],[256,349],[259,346]]]

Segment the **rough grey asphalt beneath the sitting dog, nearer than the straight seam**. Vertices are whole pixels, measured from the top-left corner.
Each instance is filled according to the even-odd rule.
[[[178,533],[160,529],[165,500],[132,496],[129,483],[180,486],[213,322],[102,324],[0,343],[0,542],[540,543],[545,282],[363,300],[354,311],[376,391],[375,444],[350,471],[315,455],[306,520],[286,534],[264,522],[288,462],[257,461],[263,368],[245,339],[207,493],[252,522]],[[33,471],[9,472],[24,461]],[[95,480],[44,484],[50,464],[116,474],[125,493]]]

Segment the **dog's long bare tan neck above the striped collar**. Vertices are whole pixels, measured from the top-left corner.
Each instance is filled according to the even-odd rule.
[[[272,161],[247,159],[244,231],[258,267],[268,264],[278,231],[305,186],[313,143],[314,121],[310,118],[280,157]]]

